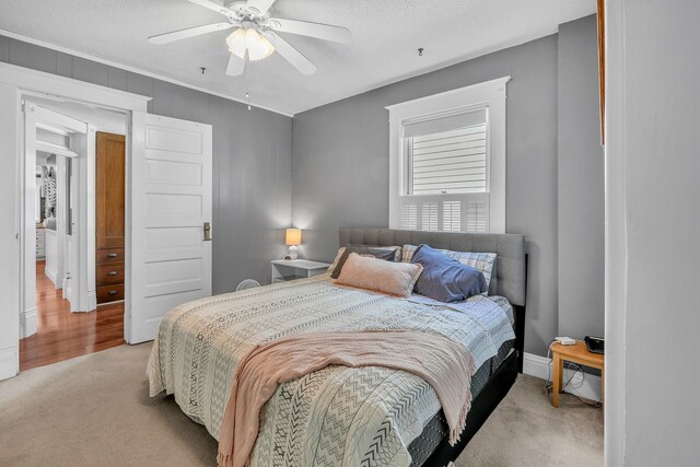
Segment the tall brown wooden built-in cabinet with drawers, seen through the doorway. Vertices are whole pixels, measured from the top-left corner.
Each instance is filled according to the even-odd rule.
[[[96,145],[96,285],[106,303],[124,300],[125,137],[98,131]]]

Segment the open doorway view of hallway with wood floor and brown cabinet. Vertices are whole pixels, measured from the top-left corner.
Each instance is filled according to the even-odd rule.
[[[36,190],[22,202],[20,371],[125,342],[128,124],[126,113],[34,96],[23,112]]]

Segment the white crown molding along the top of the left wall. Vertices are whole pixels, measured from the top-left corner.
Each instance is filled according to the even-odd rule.
[[[165,82],[168,82],[171,84],[176,84],[178,86],[188,87],[190,90],[199,91],[199,92],[202,92],[202,93],[206,93],[206,94],[210,94],[210,95],[214,95],[217,97],[222,97],[222,98],[225,98],[228,101],[233,101],[233,102],[237,102],[240,104],[248,105],[247,101],[234,97],[234,96],[229,95],[229,94],[220,93],[220,92],[217,92],[217,91],[211,91],[211,90],[208,90],[206,87],[198,86],[196,84],[189,84],[189,83],[186,83],[184,81],[175,80],[173,78],[168,78],[168,77],[165,77],[163,74],[145,71],[145,70],[142,70],[142,69],[137,68],[137,67],[131,67],[129,65],[119,63],[119,62],[116,62],[116,61],[112,61],[112,60],[107,60],[107,59],[104,59],[104,58],[95,57],[94,55],[83,54],[81,51],[78,51],[78,50],[74,50],[74,49],[71,49],[71,48],[68,48],[68,47],[59,46],[59,45],[56,45],[56,44],[47,43],[45,40],[39,40],[39,39],[35,39],[33,37],[24,36],[22,34],[13,33],[12,31],[0,28],[0,35],[10,37],[12,39],[16,39],[16,40],[22,40],[22,42],[25,42],[25,43],[34,44],[34,45],[39,46],[39,47],[46,47],[46,48],[51,49],[51,50],[60,51],[60,52],[72,55],[72,56],[80,57],[80,58],[84,58],[86,60],[96,61],[97,63],[102,63],[102,65],[107,65],[109,67],[119,68],[121,70],[130,71],[132,73],[142,74],[144,77],[153,78],[155,80],[165,81]],[[268,107],[268,106],[265,106],[265,105],[258,105],[253,101],[250,102],[250,105],[253,107],[257,107],[257,108],[260,108],[262,110],[273,112],[276,114],[280,114],[280,115],[283,115],[285,117],[294,117],[294,114],[290,114],[288,112],[279,110],[277,108]]]

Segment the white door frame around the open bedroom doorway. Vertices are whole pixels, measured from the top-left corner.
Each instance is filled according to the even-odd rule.
[[[97,84],[31,70],[9,63],[0,63],[0,160],[8,168],[0,171],[0,380],[12,377],[20,369],[20,312],[21,312],[21,255],[20,240],[24,235],[22,212],[22,108],[25,94],[43,95],[127,113],[129,127],[131,112],[148,112],[151,97],[113,90]],[[127,174],[131,159],[130,135],[127,135]],[[10,167],[14,166],[14,170]],[[128,175],[127,175],[128,178]],[[128,268],[130,258],[130,199],[126,199],[126,252]],[[127,278],[128,280],[128,278]],[[129,323],[129,296],[126,296],[125,329]]]

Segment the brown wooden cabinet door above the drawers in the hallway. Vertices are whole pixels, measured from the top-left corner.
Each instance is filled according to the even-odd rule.
[[[96,154],[96,248],[122,248],[125,137],[97,132]]]

